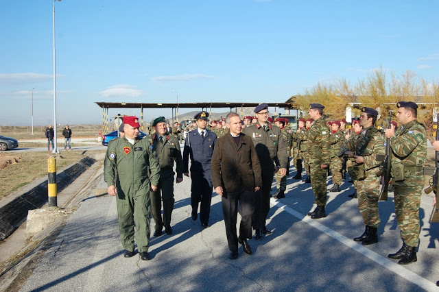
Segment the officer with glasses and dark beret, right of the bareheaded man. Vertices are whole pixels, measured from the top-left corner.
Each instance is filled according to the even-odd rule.
[[[244,127],[243,133],[252,138],[262,169],[262,188],[255,195],[253,214],[253,229],[255,239],[262,239],[262,234],[272,234],[265,226],[270,211],[270,191],[273,175],[281,170],[281,175],[287,174],[287,148],[281,129],[268,123],[268,104],[260,104],[254,108],[258,121],[250,127]],[[276,167],[274,166],[276,162]]]

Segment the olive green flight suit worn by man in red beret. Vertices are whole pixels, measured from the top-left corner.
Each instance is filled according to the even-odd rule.
[[[104,180],[112,186],[116,179],[117,217],[125,250],[134,251],[134,224],[139,252],[147,252],[150,246],[150,186],[158,184],[159,171],[157,154],[147,139],[137,138],[132,145],[122,137],[108,145]]]

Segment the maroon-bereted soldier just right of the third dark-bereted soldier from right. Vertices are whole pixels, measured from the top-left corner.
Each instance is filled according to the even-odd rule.
[[[343,158],[338,157],[340,146],[344,144],[344,134],[340,131],[340,121],[333,121],[331,125],[331,173],[333,187],[329,189],[330,192],[340,192],[342,185],[342,166]]]

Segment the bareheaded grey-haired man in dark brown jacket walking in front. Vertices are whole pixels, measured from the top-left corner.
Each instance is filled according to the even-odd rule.
[[[229,132],[217,140],[213,151],[211,174],[215,192],[222,196],[222,212],[226,224],[226,235],[230,255],[238,258],[238,243],[246,254],[252,254],[247,239],[252,238],[252,215],[254,192],[262,186],[261,165],[254,149],[252,138],[241,133],[239,115],[230,112],[226,116]],[[237,208],[241,224],[237,236]]]

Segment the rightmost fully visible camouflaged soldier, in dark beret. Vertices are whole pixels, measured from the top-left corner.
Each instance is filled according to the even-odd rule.
[[[416,262],[419,241],[419,207],[424,186],[423,165],[427,157],[427,134],[425,126],[416,120],[418,105],[412,101],[396,104],[396,118],[401,128],[385,130],[392,148],[392,184],[396,221],[401,230],[403,246],[389,258],[399,259],[400,265]],[[397,175],[402,173],[402,175]]]

